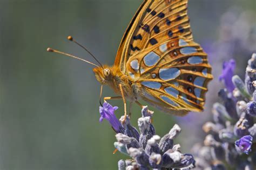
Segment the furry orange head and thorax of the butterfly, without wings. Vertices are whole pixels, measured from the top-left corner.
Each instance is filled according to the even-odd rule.
[[[121,94],[119,84],[121,84],[125,98],[130,101],[137,100],[138,84],[126,74],[123,74],[117,67],[104,65],[103,68],[95,67],[93,72],[95,72],[95,77],[100,84],[110,86],[119,95]]]

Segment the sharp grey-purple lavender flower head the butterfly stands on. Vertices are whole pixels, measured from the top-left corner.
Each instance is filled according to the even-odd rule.
[[[100,114],[107,119],[113,129],[118,132],[116,134],[117,142],[114,142],[114,147],[123,154],[130,155],[134,161],[118,161],[118,169],[161,169],[161,168],[184,168],[191,169],[194,167],[195,160],[191,154],[180,153],[180,145],[173,145],[181,128],[174,125],[170,132],[160,138],[156,135],[154,126],[151,124],[153,112],[147,110],[145,106],[142,110],[142,117],[138,119],[140,133],[135,127],[130,124],[129,117],[126,118],[124,124],[117,123],[117,118],[114,116],[114,110],[117,107],[112,107],[108,103],[104,103],[100,107]],[[123,121],[124,117],[120,118]]]

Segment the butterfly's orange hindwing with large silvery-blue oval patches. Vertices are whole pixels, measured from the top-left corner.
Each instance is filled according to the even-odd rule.
[[[142,92],[156,98],[155,103],[165,103],[170,110],[203,110],[211,66],[206,53],[192,40],[174,37],[150,46],[130,57],[126,68],[142,84]]]

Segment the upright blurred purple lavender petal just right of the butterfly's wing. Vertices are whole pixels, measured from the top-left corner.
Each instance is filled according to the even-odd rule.
[[[224,79],[225,86],[228,92],[231,92],[231,93],[235,88],[232,82],[234,69],[235,69],[235,60],[230,59],[229,61],[223,63],[223,71],[222,71],[222,74],[219,76],[220,81]]]

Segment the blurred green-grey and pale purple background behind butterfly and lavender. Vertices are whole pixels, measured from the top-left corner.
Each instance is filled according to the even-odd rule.
[[[113,64],[120,39],[138,0],[0,1],[0,169],[117,169],[122,154],[112,154],[114,132],[99,123],[100,85],[92,66],[46,52],[47,47],[88,60],[83,49],[66,40],[72,35],[100,62]],[[222,63],[235,58],[244,77],[246,61],[256,51],[255,0],[192,0],[188,5],[194,39],[209,53],[215,79],[203,113],[177,118],[154,110],[157,134],[178,123],[176,140],[190,152],[202,142],[201,125],[218,101]],[[94,61],[93,61],[94,62]],[[104,96],[113,96],[104,87]],[[121,101],[118,117],[123,114]],[[133,107],[137,125],[140,108]]]

